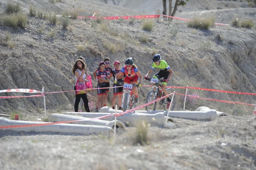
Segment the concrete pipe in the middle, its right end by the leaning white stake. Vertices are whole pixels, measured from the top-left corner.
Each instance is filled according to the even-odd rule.
[[[87,118],[94,118],[106,115],[112,115],[112,113],[94,113],[94,112],[63,112],[63,114],[75,114],[84,116]],[[112,121],[115,119],[115,116],[103,118],[103,120]],[[145,121],[151,124],[151,126],[163,125],[165,122],[165,116],[162,113],[156,114],[142,114],[142,113],[127,113],[122,116],[116,117],[117,120],[121,120],[127,126],[136,126],[139,121]]]

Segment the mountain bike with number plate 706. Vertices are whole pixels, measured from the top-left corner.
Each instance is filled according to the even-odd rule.
[[[162,87],[162,85],[159,84],[159,82],[163,82],[163,80],[159,80],[157,78],[148,78],[147,80],[151,81],[151,83],[154,83],[154,86],[152,86],[152,90],[150,90],[147,94],[146,103],[156,100],[157,98],[163,97],[164,94],[162,92],[162,89],[159,88],[159,86]],[[154,88],[155,88],[155,90],[154,90]],[[168,94],[174,92],[174,90],[172,88],[167,88],[166,90],[167,90]],[[170,95],[169,98],[171,100],[173,100],[172,106],[170,109],[170,110],[173,110],[175,107],[175,95],[174,95],[173,99],[172,99],[172,95]],[[167,108],[167,103],[168,103],[167,98],[159,100],[158,103],[159,103],[159,105],[163,106],[164,110],[169,109],[169,108]],[[151,105],[145,106],[145,110],[156,110],[156,104],[157,104],[157,102],[155,102]]]

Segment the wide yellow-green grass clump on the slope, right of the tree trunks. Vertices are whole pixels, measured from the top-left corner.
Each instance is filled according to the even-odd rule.
[[[188,27],[209,30],[210,26],[214,24],[214,18],[194,18],[188,22]]]

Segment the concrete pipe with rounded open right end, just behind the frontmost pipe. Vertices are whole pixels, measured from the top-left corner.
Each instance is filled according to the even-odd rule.
[[[72,116],[72,115],[63,115],[63,114],[58,114],[58,113],[51,114],[50,118],[56,122],[72,121],[72,120],[86,120],[86,121],[74,122],[74,124],[99,125],[99,126],[107,126],[107,127],[111,127],[111,128],[113,128],[115,126],[115,120],[112,120],[112,121],[88,120],[90,118]],[[120,128],[123,128],[124,130],[126,130],[125,124],[120,120],[116,121],[116,127],[120,127]]]

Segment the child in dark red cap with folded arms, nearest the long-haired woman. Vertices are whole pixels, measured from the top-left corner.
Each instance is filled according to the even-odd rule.
[[[105,68],[105,63],[102,61],[99,64],[99,71],[97,71],[96,76],[98,79],[98,85],[97,88],[104,88],[106,87],[106,84],[109,83],[109,76],[108,73],[106,71],[104,71]],[[97,110],[100,109],[103,106],[106,106],[106,104],[103,103],[103,101],[105,101],[106,98],[106,89],[98,89],[98,102],[97,102]]]

